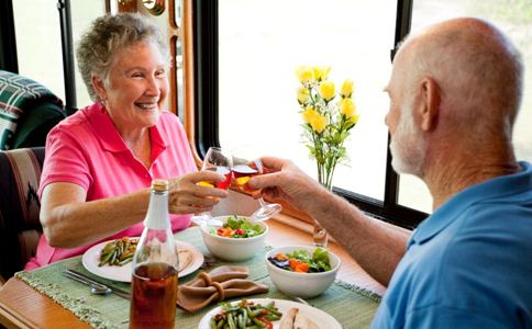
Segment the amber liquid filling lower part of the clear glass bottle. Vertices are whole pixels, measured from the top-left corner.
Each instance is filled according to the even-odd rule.
[[[177,271],[168,263],[147,263],[133,273],[130,328],[174,328]]]

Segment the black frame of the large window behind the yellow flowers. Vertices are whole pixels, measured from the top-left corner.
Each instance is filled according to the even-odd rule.
[[[398,0],[395,31],[395,46],[410,32],[413,0]],[[193,48],[195,48],[195,140],[198,152],[204,156],[209,146],[220,146],[219,141],[219,54],[218,54],[218,8],[219,0],[197,0],[193,2]],[[388,134],[388,145],[390,136]],[[378,201],[353,191],[333,188],[334,193],[345,197],[362,211],[383,220],[413,228],[428,214],[399,204],[399,175],[391,168],[391,154],[388,148],[384,201]],[[290,212],[293,214],[293,212]],[[304,217],[304,216],[302,216]]]

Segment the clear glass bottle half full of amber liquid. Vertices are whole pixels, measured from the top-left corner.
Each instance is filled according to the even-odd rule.
[[[132,264],[130,328],[174,328],[179,259],[168,216],[168,181],[152,182]]]

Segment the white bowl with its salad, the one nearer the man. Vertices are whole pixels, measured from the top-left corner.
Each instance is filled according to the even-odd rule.
[[[309,246],[280,247],[266,253],[266,268],[277,288],[287,295],[312,298],[336,277],[341,260],[333,252]]]

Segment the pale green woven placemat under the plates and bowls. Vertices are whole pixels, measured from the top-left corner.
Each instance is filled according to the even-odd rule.
[[[210,256],[201,238],[199,227],[192,227],[176,234],[176,239],[187,241],[206,254],[206,263],[201,269],[187,277],[180,280],[186,283],[193,279],[199,271],[210,271],[211,269],[230,264],[219,261]],[[264,256],[270,247],[265,247],[263,252],[253,259],[231,264],[246,265],[250,270],[250,280],[264,283],[269,286],[269,292],[263,295],[248,296],[247,298],[281,298],[289,299],[279,292],[271,281],[264,263]],[[97,277],[85,270],[81,264],[81,257],[75,257],[55,262],[51,265],[27,272],[18,272],[15,275],[38,292],[49,296],[63,307],[73,311],[82,321],[95,328],[128,328],[130,317],[130,302],[115,295],[97,296],[89,293],[89,287],[76,281],[69,280],[62,274],[66,269],[74,269],[88,276]],[[130,284],[104,280],[110,286],[129,290]],[[332,315],[344,328],[368,328],[377,310],[380,297],[372,292],[359,288],[355,285],[336,281],[324,294],[309,299],[308,302],[328,314]],[[177,309],[176,328],[197,328],[198,322],[210,309],[212,305],[203,310],[189,314]]]

